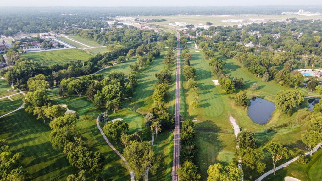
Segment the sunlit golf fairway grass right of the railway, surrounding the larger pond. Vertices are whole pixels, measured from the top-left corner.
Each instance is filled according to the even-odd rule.
[[[189,48],[192,48],[193,43],[189,43]],[[213,76],[212,68],[208,65],[208,60],[205,60],[202,51],[191,49],[190,53],[192,58],[190,60],[191,66],[196,70],[194,80],[198,82],[201,91],[199,92],[199,105],[200,108],[192,110],[189,103],[193,100],[191,94],[188,92],[188,82],[183,82],[185,97],[181,101],[187,107],[186,112],[182,112],[188,119],[195,119],[196,136],[195,142],[197,144],[197,162],[198,167],[202,170],[203,180],[206,179],[206,170],[209,165],[220,162],[227,164],[232,161],[233,150],[235,145],[233,143],[234,134],[232,126],[229,122],[229,114],[231,114],[237,121],[241,129],[249,129],[255,132],[255,136],[260,149],[270,140],[282,143],[295,152],[294,157],[300,151],[305,150],[305,145],[301,142],[301,135],[305,132],[302,127],[298,126],[297,119],[308,114],[306,111],[308,104],[303,104],[296,108],[297,112],[291,116],[280,114],[274,111],[272,118],[265,125],[254,123],[248,116],[247,107],[235,106],[233,102],[234,94],[225,94],[219,86],[213,84],[212,80],[217,79]],[[199,51],[199,50],[198,50]],[[275,99],[275,94],[279,90],[287,89],[280,87],[275,81],[263,82],[257,79],[253,74],[248,72],[245,68],[241,67],[238,62],[233,59],[227,59],[220,55],[219,58],[225,60],[226,65],[224,73],[231,78],[237,76],[243,77],[245,80],[244,90],[248,98],[261,97],[270,101]],[[185,80],[185,79],[183,79]],[[259,89],[251,90],[251,85],[257,82]],[[290,89],[291,90],[291,89]],[[307,94],[306,89],[298,88],[304,94]],[[236,90],[238,92],[239,90]],[[306,100],[307,101],[307,100]],[[280,129],[273,129],[267,132],[276,125],[288,123]],[[206,137],[209,137],[205,139]],[[284,162],[284,161],[283,161]],[[283,162],[280,162],[283,163]],[[265,163],[267,164],[266,170],[271,169],[270,157],[266,155]]]

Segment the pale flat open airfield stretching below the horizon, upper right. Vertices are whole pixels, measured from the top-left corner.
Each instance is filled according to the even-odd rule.
[[[165,22],[155,22],[153,24],[167,25],[170,22],[186,22],[188,24],[206,24],[206,22],[211,22],[213,25],[235,25],[239,23],[234,22],[222,22],[223,20],[245,20],[243,23],[248,22],[268,22],[268,21],[278,21],[285,20],[287,18],[296,17],[298,20],[308,20],[308,19],[322,19],[321,16],[295,16],[295,15],[253,15],[253,14],[242,14],[239,16],[197,16],[197,15],[175,15],[175,16],[140,16],[141,19],[166,19]]]

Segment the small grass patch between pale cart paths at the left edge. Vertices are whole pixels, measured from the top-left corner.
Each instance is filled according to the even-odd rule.
[[[18,109],[23,104],[19,94],[11,96],[10,98],[14,101],[9,100],[8,98],[0,99],[0,116]]]

